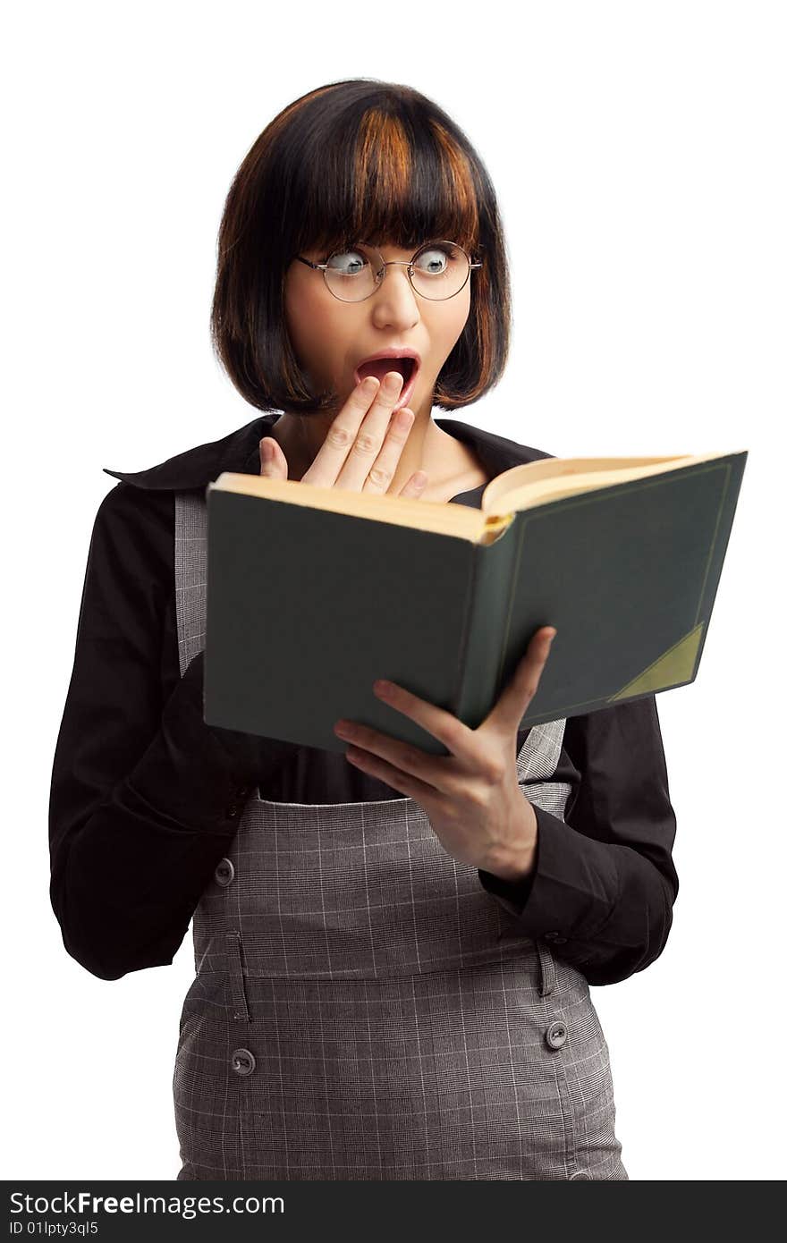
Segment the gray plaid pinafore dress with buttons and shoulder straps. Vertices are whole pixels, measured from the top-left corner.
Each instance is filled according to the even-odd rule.
[[[180,672],[205,641],[205,496],[175,493]],[[564,721],[518,753],[562,818]],[[178,1180],[628,1178],[578,971],[521,935],[410,798],[255,789],[194,912]]]

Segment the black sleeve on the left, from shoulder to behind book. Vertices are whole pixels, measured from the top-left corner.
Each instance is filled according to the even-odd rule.
[[[103,979],[172,962],[249,787],[290,745],[203,721],[203,654],[164,699],[173,495],[119,484],[91,537],[50,787],[50,899]]]

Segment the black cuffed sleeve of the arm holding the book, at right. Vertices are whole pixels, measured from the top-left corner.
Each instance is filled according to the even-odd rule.
[[[533,804],[531,874],[479,878],[525,935],[547,941],[591,984],[612,984],[661,953],[678,896],[655,696],[569,717],[563,747],[579,773],[566,820]]]

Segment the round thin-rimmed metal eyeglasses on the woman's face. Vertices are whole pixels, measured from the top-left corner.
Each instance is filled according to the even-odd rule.
[[[410,260],[389,259],[367,242],[353,245],[352,250],[337,250],[324,264],[312,264],[311,260],[296,255],[301,264],[321,271],[331,293],[339,302],[363,302],[370,297],[385,280],[392,264],[407,268],[410,286],[421,298],[430,302],[443,302],[453,298],[467,283],[474,267],[463,247],[454,241],[429,241],[415,251]]]

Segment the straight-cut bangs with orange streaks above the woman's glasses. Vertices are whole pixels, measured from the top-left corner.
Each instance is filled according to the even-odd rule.
[[[414,124],[400,107],[344,108],[312,127],[293,188],[302,209],[295,250],[327,255],[358,241],[403,250],[424,241],[458,242],[472,256],[479,241],[474,170],[434,118]],[[337,225],[338,222],[338,225]]]

